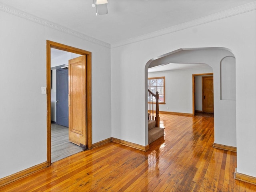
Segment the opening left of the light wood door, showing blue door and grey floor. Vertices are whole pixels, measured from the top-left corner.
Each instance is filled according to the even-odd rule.
[[[84,150],[69,139],[68,60],[79,56],[51,48],[51,163]]]

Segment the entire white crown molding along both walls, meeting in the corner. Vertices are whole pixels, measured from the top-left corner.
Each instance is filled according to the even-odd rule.
[[[103,41],[100,41],[98,39],[92,38],[92,37],[87,36],[85,34],[82,34],[80,32],[76,32],[76,31],[74,31],[70,28],[60,26],[60,25],[58,25],[54,22],[50,22],[48,20],[44,20],[42,18],[39,18],[39,17],[36,17],[34,15],[28,14],[28,13],[26,13],[22,10],[18,10],[16,8],[12,7],[12,6],[2,4],[1,2],[0,2],[0,10],[4,11],[4,12],[7,12],[7,13],[10,13],[10,14],[13,14],[15,16],[24,18],[26,20],[30,20],[32,22],[36,22],[38,24],[47,26],[49,28],[64,32],[66,34],[76,36],[76,37],[81,38],[83,40],[87,40],[89,42],[92,42],[92,43],[110,48],[110,44],[108,44],[106,42],[103,42]],[[220,20],[220,19],[227,18],[227,17],[230,17],[230,16],[242,14],[242,13],[249,12],[249,11],[252,11],[252,10],[256,10],[256,2],[245,4],[243,6],[239,6],[239,7],[232,8],[232,9],[229,9],[229,10],[226,10],[226,11],[222,11],[222,12],[219,12],[219,13],[216,13],[216,14],[205,16],[205,17],[202,17],[202,18],[199,18],[199,19],[196,19],[196,20],[192,20],[192,21],[189,21],[189,22],[185,22],[185,23],[182,23],[182,24],[179,24],[179,25],[176,25],[176,26],[172,26],[172,27],[169,27],[169,28],[165,28],[163,30],[159,30],[159,31],[156,31],[156,32],[152,32],[152,33],[149,33],[149,34],[138,36],[136,38],[131,38],[131,39],[128,39],[128,40],[125,40],[125,41],[117,42],[117,43],[111,44],[111,48],[116,48],[116,47],[119,47],[119,46],[124,46],[126,44],[131,44],[131,43],[139,42],[139,41],[142,41],[142,40],[147,40],[147,39],[150,39],[150,38],[154,38],[154,37],[157,37],[157,36],[170,34],[170,33],[176,32],[176,31],[184,30],[184,29],[187,29],[187,28],[191,28],[191,27],[198,26],[198,25],[201,25],[201,24],[205,24],[205,23],[209,23],[209,22],[212,22],[212,21]]]

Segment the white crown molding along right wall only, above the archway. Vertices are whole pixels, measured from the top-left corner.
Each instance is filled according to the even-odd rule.
[[[170,33],[176,32],[176,31],[184,30],[184,29],[187,29],[187,28],[191,28],[191,27],[198,26],[198,25],[201,25],[201,24],[205,24],[205,23],[209,23],[209,22],[212,22],[212,21],[220,20],[220,19],[223,19],[223,18],[235,16],[235,15],[242,14],[242,13],[245,13],[245,12],[249,12],[249,11],[252,11],[252,10],[256,10],[256,2],[248,3],[248,4],[245,4],[243,6],[239,6],[239,7],[232,8],[232,9],[229,9],[229,10],[226,10],[226,11],[218,12],[216,14],[212,14],[212,15],[205,16],[205,17],[202,17],[202,18],[198,18],[198,19],[195,19],[195,20],[192,20],[192,21],[189,21],[189,22],[178,24],[176,26],[165,28],[163,30],[159,30],[159,31],[156,31],[156,32],[152,32],[152,33],[149,33],[149,34],[138,36],[136,38],[131,38],[131,39],[128,39],[128,40],[124,40],[122,42],[117,42],[117,43],[111,44],[111,48],[116,48],[116,47],[124,46],[124,45],[127,45],[127,44],[132,44],[132,43],[135,43],[135,42],[139,42],[139,41],[147,40],[147,39],[150,39],[150,38],[154,38],[154,37],[157,37],[157,36],[170,34]]]

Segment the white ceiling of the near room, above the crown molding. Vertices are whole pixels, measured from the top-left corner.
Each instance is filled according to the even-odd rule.
[[[0,0],[26,13],[114,44],[256,0],[108,0],[96,16],[93,0]]]

